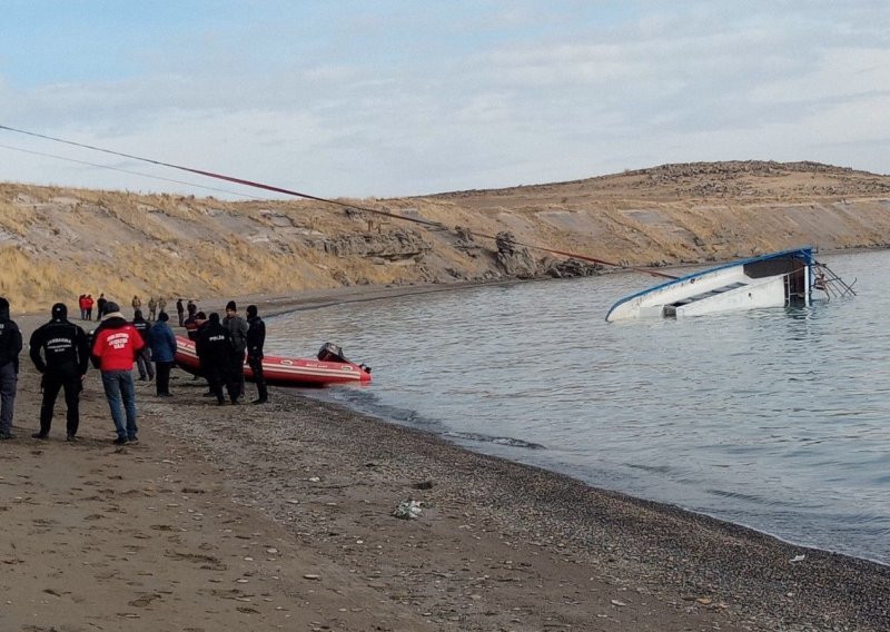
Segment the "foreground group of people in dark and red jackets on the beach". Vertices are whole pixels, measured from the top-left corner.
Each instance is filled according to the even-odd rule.
[[[99,300],[102,302],[99,310],[103,316],[92,332],[91,339],[80,326],[68,319],[68,307],[63,303],[53,305],[50,320],[31,335],[29,355],[41,374],[40,386],[43,394],[40,429],[31,435],[34,438],[48,437],[56,399],[59,392],[63,392],[68,441],[77,441],[80,393],[90,361],[101,372],[102,389],[117,433],[113,443],[117,445],[139,441],[134,364],[137,365],[140,379],[155,381],[158,396],[171,396],[169,379],[177,345],[167,313],[158,312],[157,320],[149,325],[141,310],[136,308],[134,320],[128,322],[117,303],[106,300],[105,296],[100,296]],[[261,365],[266,325],[259,318],[255,305],[247,308],[247,315],[248,319],[245,322],[238,316],[235,303],[229,302],[226,306],[225,324],[214,313],[198,327],[201,368],[210,386],[210,394],[216,395],[219,403],[225,403],[224,384],[233,404],[237,404],[243,396],[245,354],[257,384],[258,397],[253,403],[268,402]],[[81,307],[81,317],[83,316]],[[9,302],[0,297],[0,440],[14,438],[12,417],[22,347],[21,330],[10,318]]]

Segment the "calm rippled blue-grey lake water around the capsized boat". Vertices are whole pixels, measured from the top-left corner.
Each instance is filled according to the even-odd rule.
[[[609,324],[640,274],[403,297],[268,320],[340,344],[322,396],[474,450],[890,563],[890,251],[818,257],[853,299]]]

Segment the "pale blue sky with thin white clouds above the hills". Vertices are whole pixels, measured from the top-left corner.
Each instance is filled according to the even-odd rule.
[[[890,174],[890,2],[0,0],[0,126],[320,197]],[[0,129],[0,181],[280,197]]]

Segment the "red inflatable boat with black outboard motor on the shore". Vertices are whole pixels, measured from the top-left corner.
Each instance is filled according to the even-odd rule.
[[[182,336],[176,337],[176,365],[200,375],[201,367],[195,343]],[[343,357],[339,347],[325,344],[318,352],[318,359],[266,356],[263,358],[263,375],[268,384],[284,386],[325,386],[327,384],[369,384],[370,368],[354,364]],[[254,378],[254,372],[244,365],[244,376]]]

